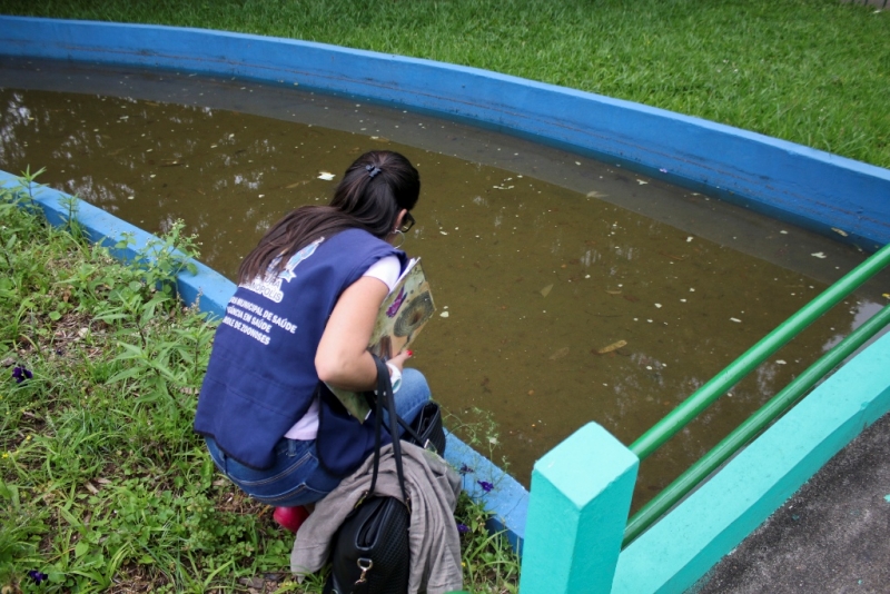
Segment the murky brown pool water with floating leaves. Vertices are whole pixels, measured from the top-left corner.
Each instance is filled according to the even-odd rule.
[[[864,258],[614,165],[362,100],[8,60],[0,87],[0,168],[47,167],[43,182],[149,231],[181,218],[229,278],[281,215],[327,200],[356,156],[408,156],[423,191],[404,248],[447,313],[413,364],[448,424],[526,485],[590,420],[633,442]],[[879,300],[834,308],[646,461],[634,506]]]

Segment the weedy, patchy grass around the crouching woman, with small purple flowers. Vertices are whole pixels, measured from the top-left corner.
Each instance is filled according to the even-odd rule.
[[[53,228],[28,192],[0,191],[2,592],[320,592],[294,584],[293,536],[191,430],[214,325],[175,297],[170,248],[192,239],[174,226],[123,266],[69,206]],[[465,580],[515,592],[518,561],[486,517],[462,497]]]

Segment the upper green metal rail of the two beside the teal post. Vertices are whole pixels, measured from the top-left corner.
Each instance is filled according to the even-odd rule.
[[[652,426],[630,449],[642,461],[685,427],[702,410],[812,324],[819,316],[849,296],[884,266],[890,264],[890,244],[874,253],[869,259],[844,275],[812,301],[779,325],[756,345],[695,390],[689,398]]]

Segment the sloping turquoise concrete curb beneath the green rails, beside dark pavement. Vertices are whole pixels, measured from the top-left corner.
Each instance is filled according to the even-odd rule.
[[[683,592],[890,412],[890,335],[849,360],[622,552],[613,593]],[[670,547],[664,543],[671,543]]]

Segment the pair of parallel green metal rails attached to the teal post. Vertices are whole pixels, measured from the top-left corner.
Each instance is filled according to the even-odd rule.
[[[695,390],[689,398],[652,426],[630,449],[642,461],[661,447],[668,439],[694,419],[702,410],[763,363],[770,355],[788,344],[819,316],[848,297],[863,283],[890,264],[890,244],[873,254],[864,263],[825,289],[797,314],[783,321],[773,331],[720,372],[710,382]],[[792,380],[784,389],[770,399],[756,413],[696,462],[676,481],[671,483],[656,497],[649,502],[627,523],[624,532],[624,546],[651,526],[690,491],[695,488],[709,474],[749,443],[767,425],[784,413],[807,390],[828,375],[857,348],[873,337],[890,323],[890,306],[857,328],[828,354]]]

